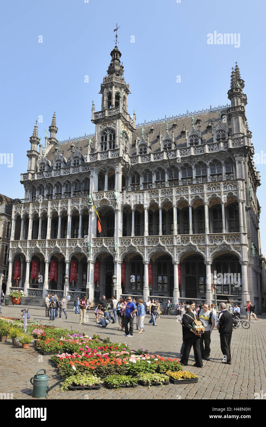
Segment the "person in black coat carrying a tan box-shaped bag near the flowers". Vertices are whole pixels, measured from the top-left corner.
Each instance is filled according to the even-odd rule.
[[[193,329],[193,320],[199,320],[198,317],[193,313],[193,308],[191,306],[187,307],[187,312],[183,314],[182,317],[182,332],[184,340],[184,352],[181,357],[181,365],[187,366],[188,357],[190,354],[191,347],[193,346],[194,357],[196,363],[194,366],[197,368],[202,368],[202,356],[200,351],[200,335],[196,335]]]

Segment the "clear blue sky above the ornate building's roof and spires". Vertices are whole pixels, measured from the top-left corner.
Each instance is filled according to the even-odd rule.
[[[0,193],[23,197],[20,173],[27,170],[26,150],[39,115],[43,139],[53,111],[58,138],[94,132],[91,101],[99,111],[98,92],[111,60],[116,22],[132,92],[129,112],[136,110],[137,122],[226,104],[237,61],[246,84],[254,149],[264,150],[265,1],[6,0],[0,13],[0,152],[14,153],[12,168],[0,164]],[[240,47],[207,44],[207,34],[214,31],[239,33]],[[40,35],[43,43],[38,43]],[[257,170],[265,254],[266,164]]]

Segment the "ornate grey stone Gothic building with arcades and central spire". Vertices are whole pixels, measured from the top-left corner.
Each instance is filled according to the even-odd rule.
[[[210,303],[213,273],[218,300],[260,307],[260,176],[239,67],[230,105],[136,126],[120,57],[115,46],[100,111],[92,105],[94,135],[59,141],[54,114],[43,146],[34,127],[20,181],[25,199],[12,213],[8,286],[21,260],[29,295],[49,287],[87,290],[90,299],[116,292]]]

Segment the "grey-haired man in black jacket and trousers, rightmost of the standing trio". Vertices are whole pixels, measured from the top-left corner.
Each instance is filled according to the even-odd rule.
[[[223,357],[225,358],[222,363],[231,365],[231,337],[233,332],[233,320],[232,315],[226,310],[225,303],[219,305],[220,316],[217,323],[217,329],[220,334],[221,350]]]

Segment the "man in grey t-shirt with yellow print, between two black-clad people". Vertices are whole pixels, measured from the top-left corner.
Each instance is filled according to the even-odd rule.
[[[209,310],[209,307],[210,304],[208,304],[208,302],[205,302],[205,304],[203,304],[202,310],[199,309],[197,313],[199,320],[205,327],[205,331],[201,334],[199,343],[202,358],[204,358],[205,360],[210,360],[210,334],[215,325],[215,316],[213,316],[213,313]]]

